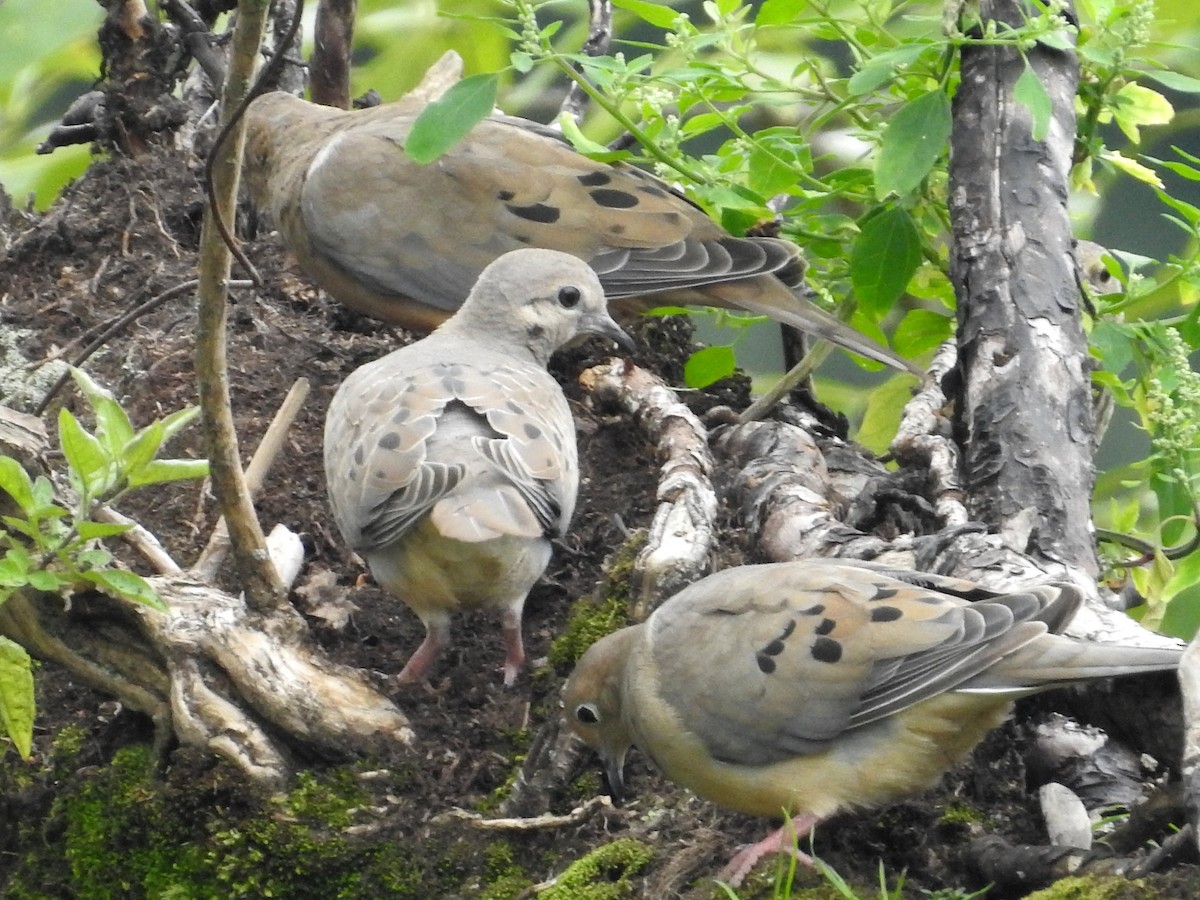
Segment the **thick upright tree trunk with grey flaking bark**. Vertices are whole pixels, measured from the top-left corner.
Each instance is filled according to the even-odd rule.
[[[1020,25],[1019,0],[985,0],[984,20]],[[1054,103],[1044,140],[1013,97],[1026,66]],[[959,298],[962,485],[974,521],[1092,578],[1092,412],[1086,338],[1067,218],[1075,137],[1072,53],[967,47],[950,138],[952,276]]]

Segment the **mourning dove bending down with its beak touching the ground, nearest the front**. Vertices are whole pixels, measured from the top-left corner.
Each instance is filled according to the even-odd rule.
[[[841,562],[728,569],[590,647],[565,715],[614,796],[636,745],[722,806],[786,811],[799,839],[839,810],[931,786],[1016,697],[1177,667],[1180,650],[1055,634],[1081,600],[1069,584],[995,594]],[[721,877],[737,884],[792,834],[785,822]]]

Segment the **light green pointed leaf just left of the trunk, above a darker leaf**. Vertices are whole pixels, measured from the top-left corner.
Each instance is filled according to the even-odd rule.
[[[904,197],[920,186],[950,136],[950,101],[932,90],[900,108],[883,132],[875,167],[878,197]]]

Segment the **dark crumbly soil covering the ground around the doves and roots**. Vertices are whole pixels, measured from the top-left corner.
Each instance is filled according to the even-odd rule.
[[[190,156],[97,161],[47,215],[8,216],[7,232],[0,235],[10,244],[0,262],[4,329],[24,330],[18,344],[29,360],[73,356],[82,336],[91,329],[194,277],[200,211],[197,167]],[[233,406],[245,455],[257,445],[293,382],[306,377],[312,383],[288,448],[258,500],[259,516],[268,528],[282,522],[304,535],[308,568],[301,584],[323,569],[336,574],[338,588],[354,605],[353,613],[342,626],[311,617],[313,638],[338,662],[378,673],[379,685],[412,718],[418,734],[412,752],[350,763],[367,786],[371,803],[384,810],[371,820],[376,826],[370,840],[404,846],[416,857],[428,851],[427,869],[416,865],[414,871],[426,872],[431,887],[424,894],[418,888],[404,895],[481,895],[487,883],[498,878],[496,847],[500,838],[462,824],[439,824],[433,817],[455,806],[487,805],[512,778],[515,760],[528,749],[530,733],[557,715],[558,690],[566,671],[550,668],[545,656],[551,641],[563,631],[571,602],[596,589],[606,558],[630,530],[649,523],[656,487],[653,449],[629,421],[592,410],[575,386],[575,373],[598,359],[604,348],[586,347],[568,354],[556,373],[576,413],[584,475],[570,534],[526,607],[532,670],[514,689],[504,690],[496,620],[464,616],[456,622],[455,644],[437,664],[431,683],[397,688],[391,677],[420,642],[422,628],[378,587],[360,584],[364,571],[341,545],[326,512],[320,445],[325,408],[340,380],[412,336],[337,306],[290,268],[269,236],[247,242],[246,251],[266,288],[234,292],[229,314]],[[193,404],[193,323],[194,300],[185,292],[110,337],[86,368],[114,391],[136,424]],[[678,383],[690,343],[686,322],[647,319],[637,330],[640,346],[649,348],[637,360]],[[746,384],[734,379],[714,391],[688,396],[700,412],[716,403],[744,404]],[[55,409],[64,402],[79,408],[73,389],[67,388],[53,401],[48,422],[53,424]],[[53,432],[53,425],[50,428]],[[170,455],[199,456],[200,444],[198,428],[192,428],[176,439]],[[196,558],[217,516],[210,491],[199,484],[146,491],[124,503],[122,510],[158,535],[184,565]],[[722,546],[722,565],[739,562],[743,554],[732,512],[726,524],[730,536]],[[130,562],[139,564],[132,557]],[[226,587],[235,587],[232,572],[227,581]],[[31,874],[42,872],[42,895],[47,896],[155,895],[145,883],[126,883],[124,890],[82,883],[71,856],[71,840],[78,839],[78,832],[64,811],[70,806],[61,802],[103,778],[101,773],[118,749],[149,742],[150,724],[54,666],[38,671],[37,686],[34,769],[18,776],[13,767],[20,763],[10,754],[0,780],[0,786],[6,786],[0,799],[0,886],[19,882],[26,892],[22,895],[36,895],[28,893]],[[82,728],[85,738],[70,768],[55,768],[62,754],[59,738],[67,726]],[[866,886],[862,889],[870,895],[875,895],[870,886],[876,883],[878,860],[892,880],[906,872],[906,895],[919,895],[920,889],[983,887],[985,882],[964,863],[970,840],[984,832],[1013,842],[1045,840],[1025,784],[1021,734],[1018,726],[994,734],[973,763],[949,775],[936,792],[823,826],[816,853],[847,878]],[[324,760],[307,763],[323,775],[340,764]],[[376,769],[377,775],[364,776],[364,769]],[[594,785],[594,775],[589,778]],[[636,799],[626,809],[578,827],[504,834],[505,853],[512,856],[509,875],[522,872],[516,881],[527,887],[614,838],[635,834],[648,841],[656,856],[635,880],[634,895],[712,896],[713,883],[702,876],[715,872],[737,844],[766,833],[764,822],[722,812],[665,782],[636,755],[630,782]],[[158,791],[155,802],[166,798],[169,815],[179,817],[180,847],[211,839],[200,822],[236,823],[268,809],[266,799],[238,773],[194,750],[169,754],[154,784]],[[578,796],[548,797],[546,804],[565,812],[587,792],[580,787]],[[122,858],[134,859],[140,851],[132,835],[128,840],[130,856]],[[324,840],[319,829],[313,840],[318,846]],[[31,862],[38,852],[42,860]],[[264,853],[265,869],[271,865],[270,848]],[[74,875],[46,862],[64,858],[76,866]],[[361,865],[366,871],[367,863]],[[798,877],[820,883],[808,872]],[[114,875],[114,884],[119,883]],[[1184,887],[1160,886],[1156,892],[1158,896],[1194,895]],[[323,895],[317,888],[295,895],[301,894]],[[364,883],[358,893],[340,895],[400,895],[400,888]]]

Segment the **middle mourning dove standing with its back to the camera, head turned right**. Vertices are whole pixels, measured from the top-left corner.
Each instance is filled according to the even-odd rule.
[[[462,608],[503,611],[504,683],[524,660],[521,611],[575,509],[578,461],[551,354],[582,332],[630,340],[595,274],[520,250],[488,265],[428,337],[356,370],[325,420],[334,521],[425,623],[400,673],[422,677]]]

